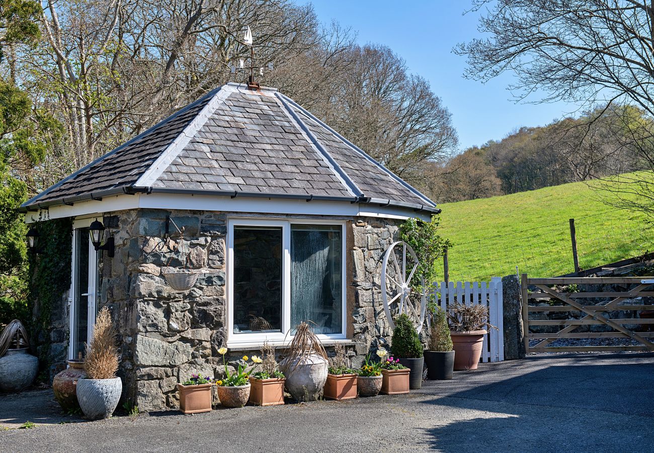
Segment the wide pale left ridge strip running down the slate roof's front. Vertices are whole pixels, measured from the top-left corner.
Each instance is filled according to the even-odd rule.
[[[225,85],[222,85],[218,88],[218,91],[213,94],[211,100],[207,102],[207,105],[202,107],[202,110],[199,111],[188,124],[186,124],[186,127],[182,130],[179,136],[171,141],[159,157],[156,158],[154,162],[150,164],[150,167],[148,167],[139,179],[137,179],[134,183],[134,187],[151,187],[152,183],[154,183],[154,181],[165,172],[170,164],[173,163],[173,160],[184,151],[186,145],[188,145],[198,131],[207,123],[207,120],[211,118],[211,115],[216,111],[218,105],[223,103],[230,94],[233,93],[233,90],[224,89],[225,87]]]

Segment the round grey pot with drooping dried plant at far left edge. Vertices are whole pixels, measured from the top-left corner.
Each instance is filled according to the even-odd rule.
[[[21,391],[37,376],[39,359],[28,351],[27,331],[14,319],[0,335],[0,391]]]

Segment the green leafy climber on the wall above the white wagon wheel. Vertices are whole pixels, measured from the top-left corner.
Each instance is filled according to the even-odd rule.
[[[432,217],[430,222],[411,218],[400,225],[399,238],[411,245],[411,248],[415,251],[420,262],[419,269],[416,272],[422,273],[424,284],[428,288],[438,281],[438,258],[443,254],[446,247],[452,245],[449,240],[439,236],[438,225],[439,219],[436,215]],[[411,281],[411,289],[421,291],[419,279]]]

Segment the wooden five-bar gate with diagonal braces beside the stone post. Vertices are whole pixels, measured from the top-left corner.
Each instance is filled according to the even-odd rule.
[[[580,291],[576,285],[621,285],[633,286],[625,291],[585,292]],[[634,351],[654,350],[654,344],[648,338],[654,337],[649,327],[654,319],[636,317],[640,310],[653,310],[653,305],[621,304],[625,299],[638,297],[652,297],[654,278],[638,277],[587,277],[587,278],[527,278],[523,274],[521,290],[523,299],[523,319],[525,326],[526,352],[594,352],[594,351]],[[558,287],[553,289],[552,286]],[[530,291],[529,288],[536,288]],[[562,291],[561,287],[565,288]],[[583,288],[581,288],[583,289]],[[645,291],[649,289],[649,291]],[[583,302],[583,299],[598,300],[596,304]],[[604,300],[609,299],[604,303]],[[549,300],[547,305],[530,305],[529,300]],[[580,301],[581,300],[581,301]],[[630,312],[631,317],[611,319],[610,312]],[[529,319],[530,313],[568,312],[579,319]],[[569,316],[568,316],[569,317]],[[606,325],[612,329],[606,332],[579,332],[581,326]],[[532,333],[530,327],[537,325],[560,326],[556,333]],[[637,329],[627,329],[625,325],[636,325]],[[642,330],[647,329],[647,332]],[[636,331],[640,330],[640,331]],[[529,346],[531,338],[538,338],[540,342],[533,347]],[[640,342],[638,346],[548,346],[558,338],[632,338]]]

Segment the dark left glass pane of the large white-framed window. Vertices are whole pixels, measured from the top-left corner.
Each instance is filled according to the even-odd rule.
[[[282,228],[234,227],[234,333],[281,332]]]

